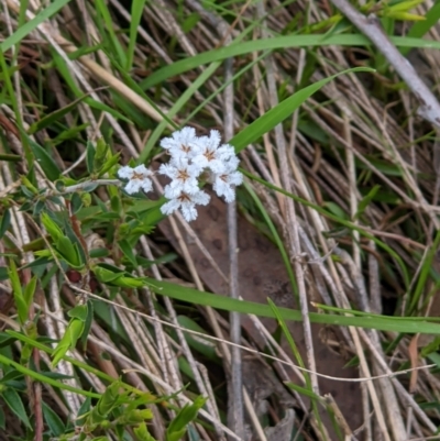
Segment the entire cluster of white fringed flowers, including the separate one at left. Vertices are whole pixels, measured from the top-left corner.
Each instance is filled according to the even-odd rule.
[[[163,139],[161,147],[170,156],[169,163],[162,164],[158,169],[160,174],[172,179],[164,191],[169,199],[161,208],[164,214],[180,209],[188,222],[197,218],[196,205],[206,206],[210,199],[199,187],[206,172],[218,196],[223,196],[227,202],[235,199],[234,187],[243,183],[243,175],[237,170],[239,158],[231,145],[221,144],[217,130],[212,130],[209,136],[197,136],[193,128],[184,128],[174,132],[172,137]],[[143,165],[122,167],[118,175],[129,179],[125,187],[129,194],[138,192],[141,188],[150,191],[152,188],[151,172]]]

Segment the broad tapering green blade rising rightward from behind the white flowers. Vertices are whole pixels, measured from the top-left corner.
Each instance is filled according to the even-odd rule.
[[[374,71],[369,68],[354,68],[341,71],[337,75],[332,75],[329,78],[321,79],[320,81],[314,82],[312,85],[298,90],[292,97],[285,99],[279,104],[268,110],[265,114],[257,118],[253,123],[243,129],[237,134],[230,144],[235,146],[235,152],[239,153],[245,148],[249,144],[258,140],[263,134],[270,132],[275,125],[283,122],[286,118],[290,117],[299,106],[302,104],[309,97],[318,91],[322,86],[327,85],[340,75],[355,73],[355,71]]]

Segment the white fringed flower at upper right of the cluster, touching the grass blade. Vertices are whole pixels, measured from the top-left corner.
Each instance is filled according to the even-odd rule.
[[[210,168],[213,173],[222,173],[224,170],[224,162],[235,156],[232,145],[220,145],[221,136],[217,130],[211,130],[209,136],[201,136],[197,141],[194,162],[201,168]]]

